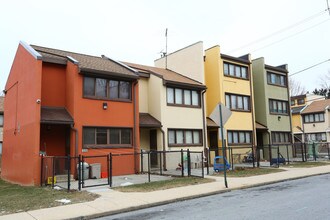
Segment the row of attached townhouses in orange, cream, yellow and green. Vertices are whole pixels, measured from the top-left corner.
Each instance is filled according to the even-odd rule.
[[[231,112],[226,147],[258,147],[267,159],[267,145],[292,143],[287,66],[203,42],[154,66],[20,42],[4,92],[1,175],[25,185],[40,183],[40,155],[218,149],[210,116],[219,103]],[[139,166],[138,158],[116,161],[113,172]]]

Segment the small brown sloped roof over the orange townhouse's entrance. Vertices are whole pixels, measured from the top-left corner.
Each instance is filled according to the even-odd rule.
[[[41,107],[41,123],[73,124],[73,118],[64,107]]]

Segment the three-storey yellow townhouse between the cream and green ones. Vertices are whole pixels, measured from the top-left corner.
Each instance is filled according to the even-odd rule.
[[[236,147],[240,154],[251,151],[256,135],[250,55],[232,57],[214,46],[205,50],[204,67],[206,115],[210,116],[218,103],[230,109],[232,114],[224,124],[226,147]],[[208,127],[210,149],[222,145],[217,130]]]

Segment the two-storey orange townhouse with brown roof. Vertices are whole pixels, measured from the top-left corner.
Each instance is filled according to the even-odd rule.
[[[5,87],[2,178],[40,184],[41,154],[139,151],[138,97],[137,73],[120,62],[20,42]],[[114,163],[114,175],[139,168],[138,158]]]

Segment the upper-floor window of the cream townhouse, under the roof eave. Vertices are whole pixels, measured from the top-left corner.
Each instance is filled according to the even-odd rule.
[[[199,92],[189,89],[167,88],[167,104],[200,107]]]

